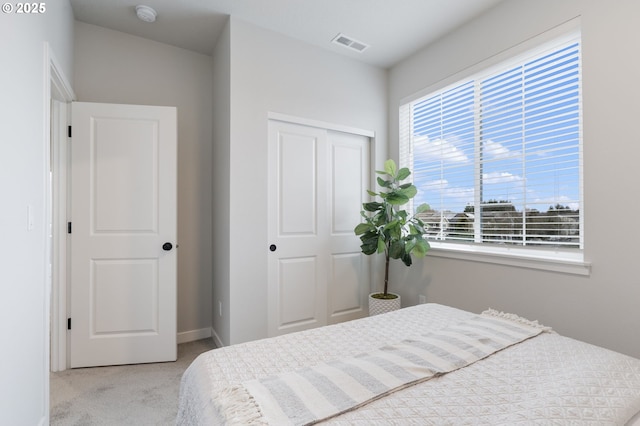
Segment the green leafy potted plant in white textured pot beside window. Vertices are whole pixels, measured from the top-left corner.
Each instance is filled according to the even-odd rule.
[[[354,232],[360,236],[362,253],[371,255],[384,254],[384,289],[382,293],[369,295],[369,314],[388,312],[400,308],[400,296],[389,292],[389,261],[400,259],[411,266],[411,255],[421,258],[429,250],[429,243],[424,239],[425,224],[416,217],[417,214],[429,210],[428,204],[421,204],[415,215],[409,215],[401,206],[407,204],[418,193],[412,183],[402,183],[411,172],[403,167],[398,170],[395,161],[387,160],[384,170],[377,170],[377,182],[380,192],[367,192],[379,200],[362,204],[361,215],[364,221],[355,227]]]

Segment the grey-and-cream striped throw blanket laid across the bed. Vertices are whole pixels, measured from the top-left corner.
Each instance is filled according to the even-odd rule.
[[[250,380],[214,404],[227,424],[308,425],[470,365],[549,328],[494,310],[358,356]]]

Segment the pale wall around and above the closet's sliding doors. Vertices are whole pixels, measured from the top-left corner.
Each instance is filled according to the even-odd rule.
[[[223,315],[230,315],[225,344],[267,335],[268,113],[372,130],[376,161],[383,161],[387,150],[386,71],[234,18],[229,43],[230,139],[214,141],[230,145],[230,220],[217,220],[214,212],[213,231],[214,245],[228,241],[229,247],[229,281],[214,283],[229,288],[231,306],[223,307]],[[215,159],[214,167],[221,161]],[[216,277],[225,273],[218,271]],[[217,327],[214,322],[216,332],[226,335]]]

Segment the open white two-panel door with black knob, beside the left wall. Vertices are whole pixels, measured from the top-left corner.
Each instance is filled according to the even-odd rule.
[[[175,361],[176,109],[76,102],[72,368]]]

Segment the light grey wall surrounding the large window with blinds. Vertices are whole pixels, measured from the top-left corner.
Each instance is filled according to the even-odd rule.
[[[635,216],[640,199],[640,2],[512,0],[390,71],[389,128],[400,100],[581,16],[583,36],[585,259],[588,277],[428,256],[395,265],[407,304],[418,294],[472,311],[487,307],[538,319],[558,332],[640,357],[640,277]],[[390,145],[397,158],[398,145]]]

